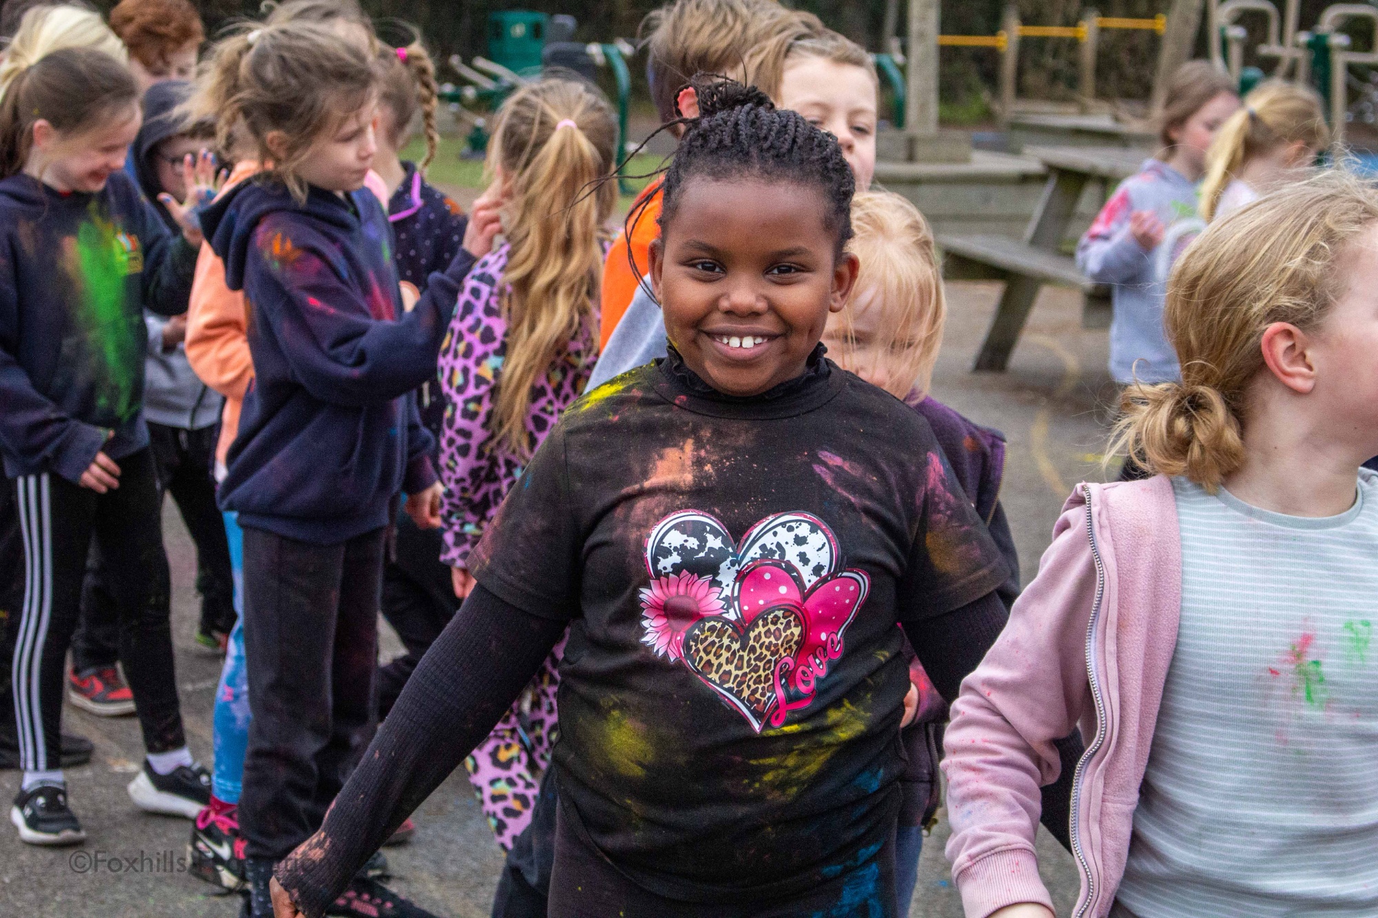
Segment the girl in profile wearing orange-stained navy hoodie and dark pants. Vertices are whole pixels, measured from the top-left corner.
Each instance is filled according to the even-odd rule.
[[[375,154],[375,51],[327,25],[245,23],[223,40],[198,109],[269,164],[203,215],[226,284],[249,305],[254,383],[220,507],[244,531],[249,726],[238,804],[251,911],[311,834],[375,725],[387,524],[398,493],[438,524],[430,434],[408,393],[435,372],[473,259],[401,309],[387,214],[362,190]],[[362,877],[351,893],[394,901]]]

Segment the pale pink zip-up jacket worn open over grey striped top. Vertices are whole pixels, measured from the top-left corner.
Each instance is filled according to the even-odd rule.
[[[947,856],[967,918],[1016,903],[1051,908],[1038,875],[1039,787],[1053,742],[1080,725],[1072,786],[1073,918],[1104,918],[1124,875],[1182,605],[1173,485],[1082,484],[1009,624],[962,682],[944,743]]]

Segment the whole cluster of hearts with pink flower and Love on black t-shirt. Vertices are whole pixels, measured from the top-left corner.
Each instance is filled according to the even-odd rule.
[[[761,520],[740,543],[682,510],[646,538],[642,642],[681,660],[759,732],[812,703],[865,600],[861,571],[836,572],[838,542],[808,513]]]

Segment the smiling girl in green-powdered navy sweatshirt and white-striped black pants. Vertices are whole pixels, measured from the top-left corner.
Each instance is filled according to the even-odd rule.
[[[110,567],[120,660],[149,753],[130,794],[168,813],[209,799],[182,733],[142,412],[143,307],[186,309],[196,249],[121,171],[141,121],[134,79],[94,48],[40,58],[0,105],[0,452],[28,565],[11,674],[23,784],[10,819],[37,845],[84,838],[66,804],[58,726],[92,536]]]

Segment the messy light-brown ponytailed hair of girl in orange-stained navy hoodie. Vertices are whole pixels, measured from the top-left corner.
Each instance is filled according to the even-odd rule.
[[[215,120],[215,139],[227,149],[232,131],[266,165],[263,175],[282,182],[298,201],[306,183],[298,175],[311,143],[342,119],[364,109],[378,91],[372,51],[342,41],[329,28],[306,21],[241,22],[229,29],[203,65],[186,117]],[[267,135],[285,145],[274,154]]]

